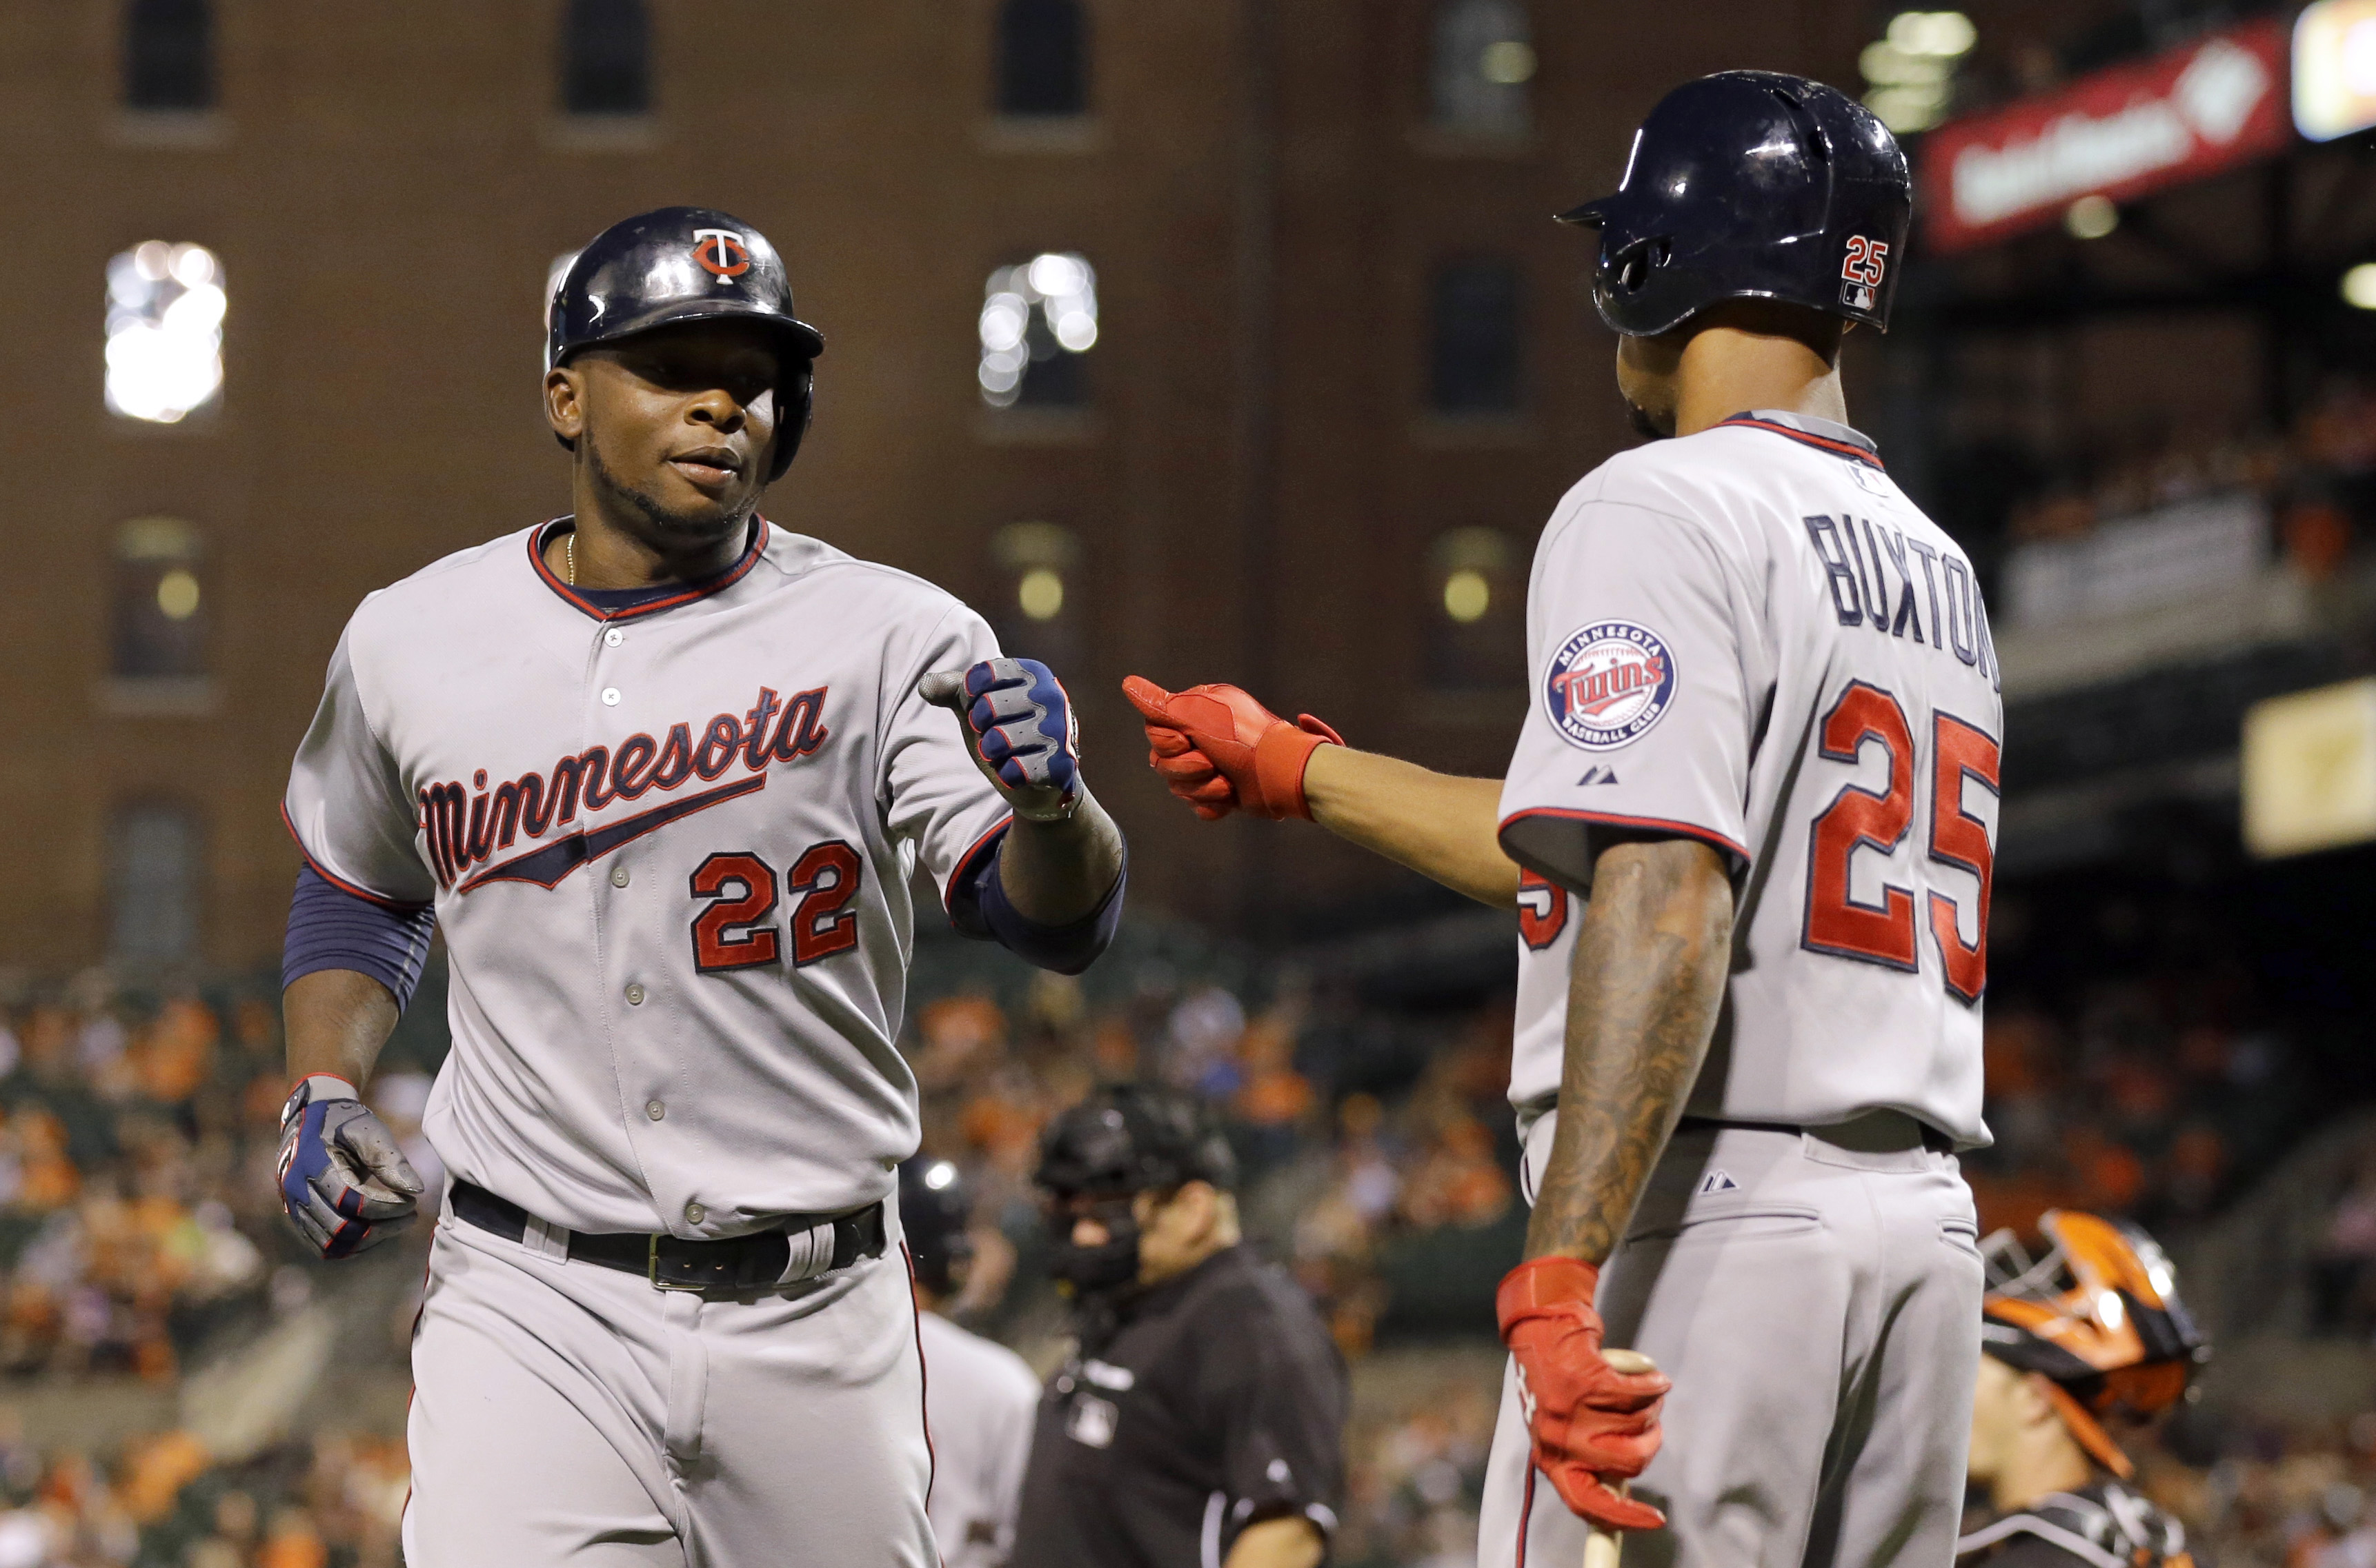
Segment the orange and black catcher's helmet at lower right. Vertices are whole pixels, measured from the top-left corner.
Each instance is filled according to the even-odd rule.
[[[2141,1228],[2048,1209],[2048,1250],[2031,1259],[2012,1231],[1979,1245],[1989,1266],[1979,1347],[2020,1371],[2041,1373],[2072,1437],[2129,1480],[2136,1466],[2105,1418],[2143,1418],[2186,1397],[2212,1349],[2179,1300],[2169,1254]]]

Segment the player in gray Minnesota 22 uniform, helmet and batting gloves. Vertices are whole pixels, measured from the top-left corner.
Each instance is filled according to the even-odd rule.
[[[1079,969],[1121,839],[1043,665],[758,516],[824,347],[758,230],[608,228],[549,347],[575,513],[371,594],[290,774],[283,1200],[328,1257],[406,1221],[356,1086],[435,922],[406,1558],[929,1568],[910,874]]]

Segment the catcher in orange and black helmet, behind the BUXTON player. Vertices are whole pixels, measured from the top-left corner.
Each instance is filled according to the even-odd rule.
[[[1970,1568],[2193,1568],[2186,1525],[2131,1492],[2115,1430],[2186,1397],[2210,1340],[2176,1269],[2117,1219],[2048,1209],[2046,1257],[1991,1235],[1972,1402],[1974,1487],[1996,1511],[1955,1542]]]

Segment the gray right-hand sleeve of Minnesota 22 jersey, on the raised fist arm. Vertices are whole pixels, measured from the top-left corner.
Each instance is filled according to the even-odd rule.
[[[881,801],[891,836],[915,843],[917,858],[948,903],[950,881],[996,848],[1010,817],[981,767],[974,765],[958,727],[958,715],[934,708],[915,694],[915,682],[934,670],[965,670],[998,656],[991,627],[967,608],[953,608],[922,639],[922,651],[901,679],[884,694]]]

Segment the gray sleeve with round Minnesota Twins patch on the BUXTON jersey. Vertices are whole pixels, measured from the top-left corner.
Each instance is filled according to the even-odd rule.
[[[1554,520],[1528,594],[1533,694],[1502,786],[1502,848],[1590,893],[1628,836],[1713,843],[1749,862],[1751,725],[1734,584],[1685,520],[1585,501]]]

